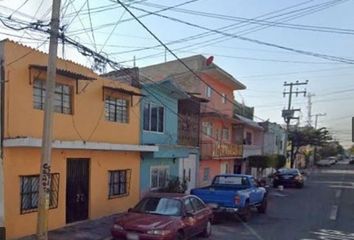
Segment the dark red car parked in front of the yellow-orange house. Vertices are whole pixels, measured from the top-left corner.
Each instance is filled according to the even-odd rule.
[[[196,196],[149,194],[115,220],[111,234],[113,239],[127,240],[209,237],[212,218],[211,209]]]

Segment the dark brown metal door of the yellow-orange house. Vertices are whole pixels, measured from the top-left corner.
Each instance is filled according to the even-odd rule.
[[[85,220],[88,218],[89,159],[68,159],[66,173],[66,223]]]

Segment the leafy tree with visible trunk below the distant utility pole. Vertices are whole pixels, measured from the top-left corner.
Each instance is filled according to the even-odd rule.
[[[294,160],[303,146],[323,146],[332,140],[326,128],[315,129],[313,127],[295,128],[289,131],[289,141],[291,144],[290,164],[294,167]]]

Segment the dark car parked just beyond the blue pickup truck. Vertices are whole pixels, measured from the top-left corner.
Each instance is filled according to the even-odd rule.
[[[300,171],[296,168],[284,168],[279,169],[273,175],[273,187],[283,186],[295,186],[302,188],[304,186],[304,177]]]

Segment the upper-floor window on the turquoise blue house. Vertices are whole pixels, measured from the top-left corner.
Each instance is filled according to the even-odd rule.
[[[145,131],[163,132],[165,109],[151,103],[144,104],[143,129]]]

